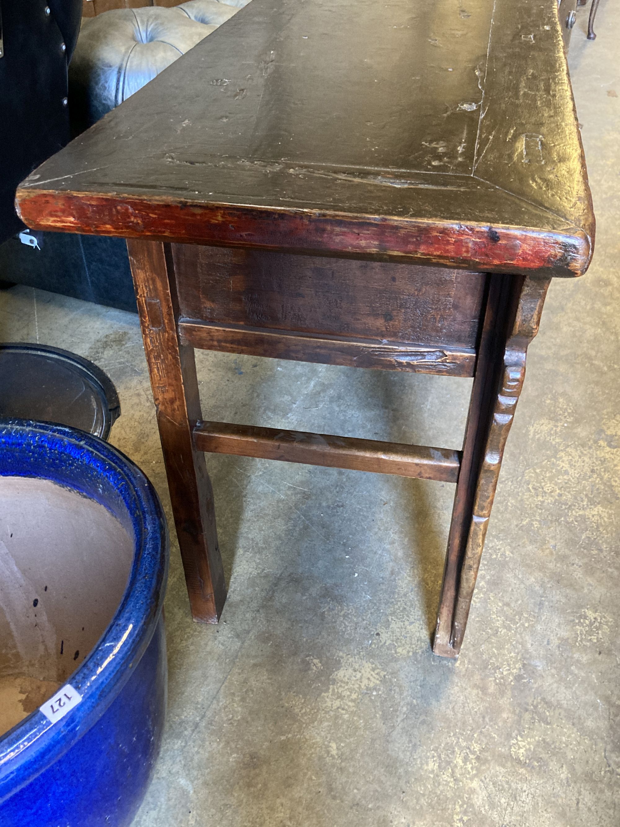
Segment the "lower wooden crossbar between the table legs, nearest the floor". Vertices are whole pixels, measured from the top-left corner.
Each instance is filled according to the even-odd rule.
[[[460,468],[460,453],[446,448],[225,422],[199,422],[193,440],[200,451],[441,482],[456,482]]]

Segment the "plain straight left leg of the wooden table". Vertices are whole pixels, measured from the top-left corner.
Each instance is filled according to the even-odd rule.
[[[192,429],[202,418],[198,380],[193,347],[179,342],[170,246],[131,239],[127,249],[193,619],[217,623],[226,584],[211,481],[203,452],[193,446]]]

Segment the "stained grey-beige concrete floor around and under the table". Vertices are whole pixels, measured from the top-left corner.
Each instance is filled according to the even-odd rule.
[[[620,12],[570,64],[598,218],[528,356],[465,645],[434,657],[453,489],[210,457],[230,595],[192,624],[173,540],[169,714],[136,827],[617,827]],[[112,376],[111,441],[169,513],[137,318],[14,288],[0,338]],[[468,380],[198,354],[205,418],[460,447]]]

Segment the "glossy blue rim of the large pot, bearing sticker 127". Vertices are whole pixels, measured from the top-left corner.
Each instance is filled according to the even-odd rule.
[[[59,466],[16,471],[16,457],[26,452],[55,458]],[[55,724],[36,710],[0,738],[0,803],[61,758],[103,715],[150,643],[164,600],[168,530],[159,497],[142,471],[107,442],[76,428],[0,421],[0,476],[36,476],[80,490],[62,475],[60,462],[69,456],[75,467],[87,463],[89,473],[105,476],[126,506],[135,538],[131,574],[112,621],[66,681],[82,696],[79,704]]]

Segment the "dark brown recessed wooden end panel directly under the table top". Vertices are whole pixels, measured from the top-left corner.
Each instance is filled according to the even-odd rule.
[[[431,347],[478,341],[484,275],[187,244],[173,256],[185,318]]]

